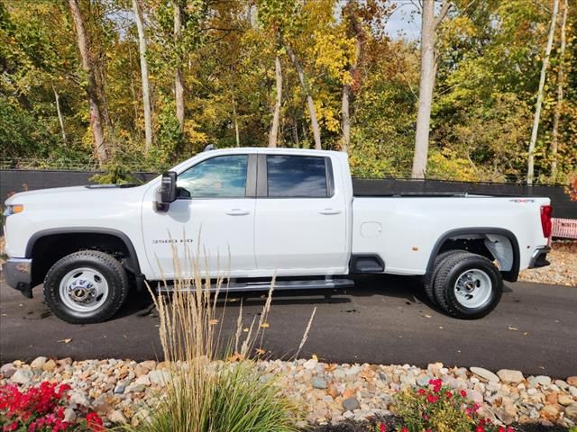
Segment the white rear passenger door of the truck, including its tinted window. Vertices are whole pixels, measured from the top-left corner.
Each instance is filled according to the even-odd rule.
[[[346,202],[330,157],[260,154],[257,173],[258,269],[277,275],[344,273]]]

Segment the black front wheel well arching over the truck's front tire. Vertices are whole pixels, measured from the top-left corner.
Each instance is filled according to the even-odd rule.
[[[80,231],[48,234],[36,238],[27,254],[32,258],[32,286],[41,284],[50,267],[60,258],[87,249],[110,254],[127,270],[136,271],[133,266],[136,257],[133,257],[124,240],[114,234]]]

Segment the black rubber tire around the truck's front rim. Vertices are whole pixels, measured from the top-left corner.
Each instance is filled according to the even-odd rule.
[[[75,311],[60,296],[62,279],[80,268],[95,270],[107,284],[106,297],[94,311]],[[44,279],[44,299],[60,320],[71,324],[91,324],[112,318],[126,300],[128,288],[126,271],[114,257],[96,250],[82,250],[61,258],[50,267]]]

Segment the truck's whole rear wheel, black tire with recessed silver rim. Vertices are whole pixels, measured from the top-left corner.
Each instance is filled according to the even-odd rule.
[[[435,300],[447,314],[474,320],[495,309],[503,293],[503,280],[488,258],[463,251],[441,263],[433,288]]]

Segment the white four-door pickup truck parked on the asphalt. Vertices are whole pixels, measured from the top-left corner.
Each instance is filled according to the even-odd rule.
[[[344,153],[211,150],[139,186],[16,193],[5,202],[6,283],[71,323],[110,319],[131,285],[225,275],[229,290],[353,286],[353,275],[419,275],[449,315],[481,318],[502,279],[547,266],[548,198],[358,197]],[[165,286],[154,283],[153,286]]]

